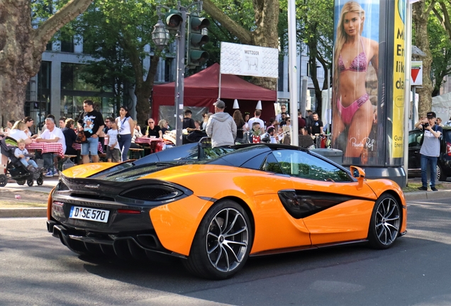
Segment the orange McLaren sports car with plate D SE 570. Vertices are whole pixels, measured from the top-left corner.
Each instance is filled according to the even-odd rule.
[[[78,254],[167,254],[212,279],[233,276],[248,256],[351,242],[386,249],[406,233],[396,183],[308,149],[242,145],[206,161],[139,161],[62,172],[48,231]]]

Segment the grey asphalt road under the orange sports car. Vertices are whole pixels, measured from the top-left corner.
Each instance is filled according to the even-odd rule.
[[[451,305],[450,254],[451,199],[409,201],[408,234],[391,249],[252,258],[223,281],[178,262],[90,261],[44,218],[0,218],[0,305]]]

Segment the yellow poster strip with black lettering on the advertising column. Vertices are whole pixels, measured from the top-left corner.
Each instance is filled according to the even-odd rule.
[[[404,74],[405,74],[405,38],[404,13],[406,1],[396,0],[394,16],[394,67],[393,67],[393,124],[391,137],[391,158],[403,157],[404,136]],[[400,7],[401,6],[401,7]],[[401,14],[403,14],[401,18]]]

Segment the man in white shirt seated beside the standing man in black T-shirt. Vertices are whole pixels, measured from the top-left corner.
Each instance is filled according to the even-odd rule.
[[[62,131],[55,126],[55,120],[52,118],[45,118],[45,131],[36,138],[36,142],[58,142],[62,145],[62,152],[66,152],[66,140],[65,135]],[[46,177],[57,175],[58,172],[53,166],[52,157],[55,154],[52,152],[43,153],[42,157],[44,159],[44,168],[47,169],[47,173],[44,174]],[[38,154],[36,154],[38,156]]]

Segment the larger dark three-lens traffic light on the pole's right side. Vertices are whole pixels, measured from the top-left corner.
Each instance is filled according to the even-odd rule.
[[[202,50],[208,40],[208,35],[202,33],[202,29],[210,26],[210,21],[207,18],[191,14],[189,16],[189,33],[188,33],[188,55],[186,64],[188,66],[199,66],[208,60],[208,52]]]

